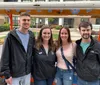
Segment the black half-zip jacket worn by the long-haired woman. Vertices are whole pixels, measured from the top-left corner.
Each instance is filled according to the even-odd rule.
[[[39,50],[35,49],[34,54],[34,78],[38,80],[54,78],[56,72],[55,53],[49,50],[47,55],[42,46]]]

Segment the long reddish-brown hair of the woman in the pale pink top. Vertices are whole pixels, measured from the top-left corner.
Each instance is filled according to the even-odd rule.
[[[66,29],[66,31],[68,32],[68,40],[67,40],[67,42],[68,42],[68,43],[71,43],[71,42],[72,42],[72,40],[71,40],[71,35],[70,35],[70,30],[69,30],[68,27],[64,26],[64,27],[62,27],[62,28],[59,30],[59,35],[58,35],[58,40],[57,40],[56,49],[58,49],[60,46],[62,46],[62,40],[61,40],[61,36],[60,36],[61,30],[62,30],[62,29]]]

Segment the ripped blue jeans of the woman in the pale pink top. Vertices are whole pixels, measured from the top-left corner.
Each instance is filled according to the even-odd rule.
[[[63,70],[57,68],[55,77],[56,85],[72,85],[73,82],[73,71]]]

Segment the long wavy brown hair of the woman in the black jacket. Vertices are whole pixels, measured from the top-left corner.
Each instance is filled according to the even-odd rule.
[[[55,50],[55,45],[54,45],[54,42],[53,42],[52,30],[48,25],[43,25],[42,28],[40,29],[38,38],[36,40],[36,48],[39,50],[42,46],[42,43],[43,43],[42,32],[43,32],[44,29],[50,29],[51,37],[50,37],[48,45],[49,45],[49,50],[54,51]]]

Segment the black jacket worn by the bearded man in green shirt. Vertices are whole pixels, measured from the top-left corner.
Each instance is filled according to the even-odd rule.
[[[76,41],[76,71],[78,76],[86,81],[95,81],[100,77],[100,43],[91,37],[90,46],[83,54],[81,39]]]

